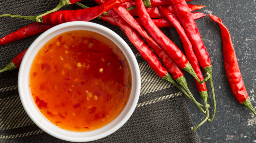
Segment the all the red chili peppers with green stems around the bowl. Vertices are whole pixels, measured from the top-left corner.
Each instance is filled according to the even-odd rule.
[[[204,17],[205,14],[191,12],[205,6],[187,4],[186,1],[190,0],[94,0],[98,6],[89,8],[78,1],[80,0],[60,0],[56,8],[36,16],[0,15],[0,18],[16,17],[35,21],[0,39],[0,46],[44,32],[57,24],[70,21],[90,21],[99,18],[119,26],[156,74],[180,89],[206,114],[206,118],[198,126],[191,128],[192,130],[196,130],[207,120],[212,121],[214,119],[216,103],[212,80],[212,65],[194,21]],[[81,9],[58,10],[70,4],[77,4],[81,6]],[[220,18],[211,14],[209,16],[220,24],[223,39],[224,67],[231,90],[235,98],[256,115],[250,100],[247,98],[248,94],[238,67],[229,32]],[[159,29],[161,27],[176,28],[186,56]],[[19,68],[26,51],[27,49],[14,57],[0,72]],[[200,67],[205,71],[205,79]],[[204,105],[197,102],[189,91],[182,70],[187,71],[194,77],[195,85],[203,98]],[[208,79],[214,108],[210,119],[205,84]]]

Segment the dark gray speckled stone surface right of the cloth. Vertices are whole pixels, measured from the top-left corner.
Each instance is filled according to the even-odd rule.
[[[232,95],[224,71],[221,31],[219,25],[208,16],[211,13],[220,17],[228,28],[248,97],[255,109],[256,2],[255,0],[193,0],[189,3],[206,6],[197,10],[205,13],[206,17],[196,20],[196,23],[212,62],[217,104],[214,120],[203,124],[197,129],[197,133],[203,143],[256,142],[256,116],[238,103]],[[188,83],[193,83],[193,79],[188,74],[186,79]],[[209,83],[206,85],[209,95],[208,103],[211,105],[210,113],[212,113],[212,94]],[[202,102],[195,86],[193,84],[188,86],[196,99]],[[187,104],[196,126],[205,116],[191,101],[187,100]]]

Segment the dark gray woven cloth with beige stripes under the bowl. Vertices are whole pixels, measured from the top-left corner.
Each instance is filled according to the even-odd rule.
[[[0,14],[33,16],[54,8],[58,0],[9,0],[1,1]],[[96,6],[91,0],[81,3]],[[79,9],[77,5],[61,10]],[[119,27],[99,19],[91,22],[104,25],[120,35],[133,50],[141,73],[141,92],[135,112],[115,133],[93,142],[168,142],[199,143],[200,138],[190,127],[194,127],[184,94],[170,83],[163,81],[150,69],[137,49],[126,38]],[[0,38],[32,23],[17,18],[0,18]],[[168,28],[161,29],[168,34]],[[0,47],[0,68],[4,68],[13,57],[27,49],[38,35]],[[19,99],[17,87],[18,69],[0,73],[0,142],[66,142],[48,135],[28,117]]]

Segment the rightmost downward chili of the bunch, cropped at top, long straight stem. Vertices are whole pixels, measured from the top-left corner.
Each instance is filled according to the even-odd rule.
[[[206,48],[203,44],[203,40],[201,39],[201,35],[198,31],[197,25],[191,15],[191,12],[187,6],[185,0],[170,0],[175,8],[177,16],[183,25],[186,34],[189,40],[192,43],[193,50],[197,56],[200,66],[203,68],[205,73],[210,73],[211,77],[209,79],[211,90],[212,90],[212,97],[213,97],[213,115],[211,119],[208,121],[212,121],[215,112],[216,112],[216,101],[215,101],[215,94],[214,94],[214,87],[212,82],[212,64],[209,58],[209,54],[206,51]]]

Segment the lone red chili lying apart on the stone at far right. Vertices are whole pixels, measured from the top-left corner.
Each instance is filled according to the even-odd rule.
[[[256,111],[254,110],[250,100],[248,99],[248,93],[245,89],[245,84],[238,66],[236,53],[228,29],[222,23],[222,20],[219,17],[212,14],[209,14],[209,16],[213,21],[217,22],[221,28],[224,68],[231,91],[235,96],[236,100],[248,109],[250,109],[256,116]]]

